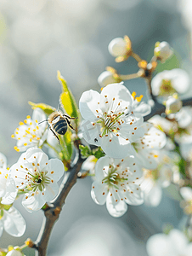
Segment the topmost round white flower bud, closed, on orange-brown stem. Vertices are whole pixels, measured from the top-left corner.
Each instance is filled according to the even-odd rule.
[[[114,38],[108,46],[110,55],[116,57],[119,55],[126,55],[127,42],[123,38]]]

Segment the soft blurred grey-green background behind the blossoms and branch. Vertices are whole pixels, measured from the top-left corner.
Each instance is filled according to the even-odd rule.
[[[191,77],[192,3],[190,0],[0,0],[0,152],[13,165],[11,134],[32,113],[28,101],[57,108],[61,87],[57,70],[67,80],[79,101],[85,90],[100,90],[97,78],[106,66],[119,73],[135,73],[133,59],[116,63],[108,53],[113,38],[129,36],[133,50],[150,61],[156,41],[167,41],[175,50],[170,67],[184,68]],[[170,64],[171,63],[171,64]],[[144,94],[142,79],[125,82],[131,91]],[[164,190],[158,207],[129,207],[121,218],[112,218],[106,207],[90,196],[92,180],[79,180],[67,197],[50,238],[48,255],[147,255],[145,242],[165,224],[178,227],[183,213],[178,201]],[[0,247],[36,240],[42,212],[29,213],[17,207],[26,219],[20,238],[0,238]],[[25,251],[33,255],[32,250]]]

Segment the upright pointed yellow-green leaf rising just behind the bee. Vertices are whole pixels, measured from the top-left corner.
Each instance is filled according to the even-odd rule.
[[[68,115],[76,118],[75,123],[77,128],[79,123],[79,109],[76,105],[76,100],[72,95],[71,90],[68,88],[65,79],[60,75],[59,71],[57,73],[57,78],[63,89],[63,92],[59,96],[59,102]]]

